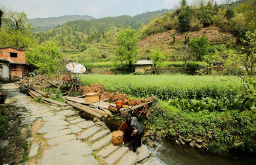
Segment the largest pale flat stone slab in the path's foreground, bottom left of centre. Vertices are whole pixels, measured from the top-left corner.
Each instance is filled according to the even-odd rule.
[[[58,165],[92,154],[93,151],[87,143],[79,140],[69,141],[43,151],[42,159],[37,165]]]

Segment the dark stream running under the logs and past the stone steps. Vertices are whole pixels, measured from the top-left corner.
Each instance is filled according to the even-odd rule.
[[[86,120],[92,120],[88,113],[79,113]],[[105,121],[108,128],[116,131],[122,122],[115,120]],[[127,147],[131,147],[127,144]],[[157,142],[157,147],[148,147],[153,156],[156,156],[167,165],[256,165],[256,153],[225,153],[211,154],[206,150],[197,150],[189,145],[178,145],[174,141],[163,138]]]

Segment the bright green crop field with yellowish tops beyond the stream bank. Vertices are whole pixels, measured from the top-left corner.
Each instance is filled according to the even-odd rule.
[[[119,91],[135,97],[155,95],[169,98],[234,98],[244,92],[240,80],[231,76],[186,75],[82,75],[84,85],[98,83],[109,92]],[[228,80],[231,79],[231,80]],[[227,81],[224,81],[227,80]]]

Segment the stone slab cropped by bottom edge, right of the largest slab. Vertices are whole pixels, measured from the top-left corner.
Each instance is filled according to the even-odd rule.
[[[92,156],[84,156],[82,158],[77,158],[72,161],[64,162],[61,165],[99,165],[97,160]]]

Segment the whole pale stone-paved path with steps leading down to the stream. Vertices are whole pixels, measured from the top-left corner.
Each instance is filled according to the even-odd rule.
[[[36,162],[29,164],[135,165],[150,157],[150,151],[144,145],[136,154],[129,152],[128,147],[113,146],[111,132],[106,126],[97,126],[93,121],[75,116],[76,112],[72,108],[35,103],[32,98],[21,93],[14,83],[4,84],[1,88],[7,90],[6,103],[10,102],[20,108],[16,115],[21,117],[21,130],[29,131],[34,125],[40,125],[37,135],[46,141],[37,141],[37,144],[33,142],[37,135],[27,137],[25,141],[31,143],[28,157],[36,159]],[[6,145],[3,143],[1,147]],[[150,165],[149,161],[143,163]],[[159,159],[156,162],[157,165],[165,165]]]

